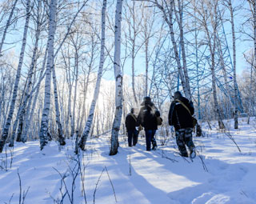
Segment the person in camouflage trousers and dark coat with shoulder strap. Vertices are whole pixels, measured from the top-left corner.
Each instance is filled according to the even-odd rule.
[[[175,128],[176,142],[182,157],[188,157],[186,146],[190,150],[190,157],[195,157],[194,142],[192,140],[193,114],[193,103],[182,97],[181,92],[176,91],[174,93],[174,101],[170,104],[168,120],[169,125]]]

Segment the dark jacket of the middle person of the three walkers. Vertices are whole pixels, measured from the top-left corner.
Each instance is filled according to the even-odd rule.
[[[142,125],[145,130],[158,130],[158,116],[160,116],[160,112],[154,106],[154,103],[145,103],[139,111],[138,123]]]

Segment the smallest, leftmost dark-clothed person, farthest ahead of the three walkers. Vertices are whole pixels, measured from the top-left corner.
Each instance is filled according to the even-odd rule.
[[[126,130],[128,133],[128,146],[135,146],[138,142],[138,126],[137,117],[134,114],[134,108],[130,110],[130,114],[126,115]]]

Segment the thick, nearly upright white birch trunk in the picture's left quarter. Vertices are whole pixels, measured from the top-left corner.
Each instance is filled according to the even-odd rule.
[[[47,132],[48,132],[48,121],[49,121],[49,110],[50,110],[50,79],[51,71],[54,66],[54,34],[56,30],[56,7],[57,0],[51,0],[50,2],[50,19],[49,19],[49,36],[48,36],[48,57],[46,65],[46,82],[45,82],[45,97],[44,106],[42,110],[42,122],[39,132],[40,147],[41,150],[48,143]]]

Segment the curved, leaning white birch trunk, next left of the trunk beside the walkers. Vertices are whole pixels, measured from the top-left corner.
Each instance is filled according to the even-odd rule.
[[[90,104],[90,112],[86,121],[86,126],[85,129],[83,130],[82,133],[82,138],[79,142],[79,147],[84,150],[86,146],[86,140],[88,138],[88,135],[90,134],[90,127],[92,125],[93,119],[94,119],[94,111],[95,111],[95,106],[98,100],[98,94],[99,94],[99,89],[101,86],[101,80],[102,80],[102,70],[103,70],[103,65],[105,61],[105,26],[106,26],[106,0],[103,0],[103,6],[102,6],[102,38],[101,38],[101,56],[100,56],[100,61],[99,61],[99,66],[98,66],[98,78],[97,82],[95,85],[94,89],[94,98]]]

